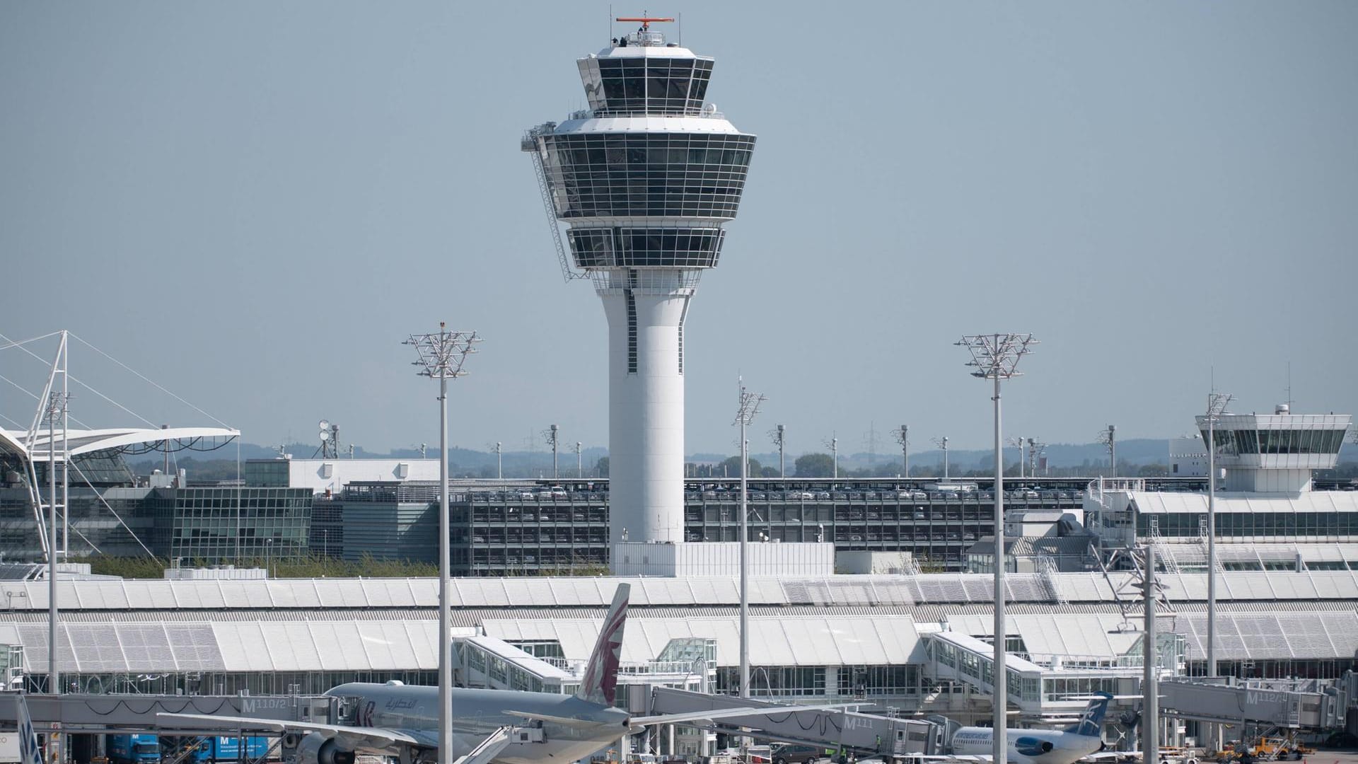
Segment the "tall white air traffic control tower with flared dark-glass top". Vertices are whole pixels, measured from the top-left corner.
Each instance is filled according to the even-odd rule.
[[[588,275],[608,319],[610,541],[680,542],[683,324],[755,136],[703,105],[713,58],[650,30],[671,19],[618,20],[641,29],[576,63],[589,109],[530,129],[521,148],[562,269]]]

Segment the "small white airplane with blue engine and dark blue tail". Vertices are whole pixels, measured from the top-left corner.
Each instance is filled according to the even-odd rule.
[[[1103,718],[1108,712],[1109,700],[1111,695],[1096,693],[1080,722],[1065,730],[1005,730],[1008,760],[1014,764],[1074,764],[1081,759],[1097,759],[1103,748]],[[990,761],[994,740],[993,727],[961,727],[952,735],[952,756],[925,759]]]

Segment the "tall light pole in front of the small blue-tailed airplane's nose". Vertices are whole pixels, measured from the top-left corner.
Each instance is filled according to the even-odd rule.
[[[1019,359],[1028,352],[1028,348],[1038,341],[1032,334],[974,334],[964,336],[959,345],[971,351],[972,377],[980,379],[994,379],[995,394],[995,665],[990,674],[994,689],[994,720],[991,722],[994,734],[994,764],[1005,764],[1009,753],[1009,744],[1004,730],[1008,727],[1006,711],[1009,708],[1008,684],[1009,673],[1005,669],[1005,451],[999,427],[999,382],[1012,377],[1019,377]]]

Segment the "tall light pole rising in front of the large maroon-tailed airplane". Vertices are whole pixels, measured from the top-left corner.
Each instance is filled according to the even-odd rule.
[[[448,379],[464,377],[462,364],[481,341],[475,332],[448,332],[439,322],[435,334],[410,334],[405,343],[414,345],[420,367],[417,374],[439,381],[439,757],[456,759],[452,753],[452,612],[448,602]]]

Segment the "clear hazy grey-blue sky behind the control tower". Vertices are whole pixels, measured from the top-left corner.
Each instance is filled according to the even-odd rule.
[[[1294,411],[1358,412],[1358,4],[648,8],[758,135],[686,325],[690,453],[736,451],[739,375],[767,396],[752,450],[775,423],[790,453],[869,430],[889,453],[900,424],[985,447],[990,389],[953,343],[990,332],[1042,341],[1006,434],[1173,436],[1213,385],[1263,412],[1289,377]],[[210,415],[281,443],[325,417],[384,451],[439,440],[401,341],[447,321],[485,337],[451,443],[607,445],[603,310],[564,283],[519,151],[585,105],[607,16],[0,4],[0,333],[80,338],[90,426]],[[0,375],[43,367],[0,349]],[[0,427],[33,408],[0,383]]]

